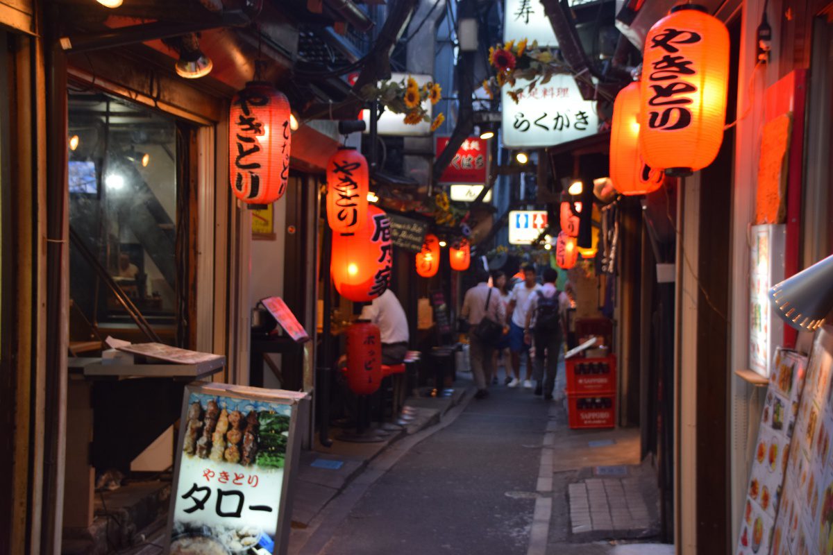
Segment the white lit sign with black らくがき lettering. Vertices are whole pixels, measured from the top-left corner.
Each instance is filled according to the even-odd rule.
[[[530,82],[518,79],[501,92],[503,144],[509,148],[553,146],[595,135],[599,129],[596,102],[581,97],[575,79],[559,74],[531,91]],[[518,102],[509,91],[521,89]]]

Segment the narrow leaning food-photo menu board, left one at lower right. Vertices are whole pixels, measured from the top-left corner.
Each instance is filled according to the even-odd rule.
[[[746,488],[738,555],[769,553],[781,483],[804,386],[807,359],[795,351],[776,349],[773,371],[758,429],[755,458]]]

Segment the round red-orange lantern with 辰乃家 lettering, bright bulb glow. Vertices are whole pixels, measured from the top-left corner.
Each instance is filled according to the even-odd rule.
[[[387,290],[391,280],[391,221],[381,208],[367,207],[365,225],[332,234],[330,273],[339,295],[367,302]]]

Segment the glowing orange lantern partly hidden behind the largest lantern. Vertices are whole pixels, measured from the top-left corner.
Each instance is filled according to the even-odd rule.
[[[662,185],[661,170],[651,169],[639,151],[639,83],[616,95],[611,124],[611,181],[622,195],[645,195]]]

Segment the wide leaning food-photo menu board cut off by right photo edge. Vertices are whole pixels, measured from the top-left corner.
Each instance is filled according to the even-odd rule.
[[[833,553],[833,327],[816,331],[781,491],[771,555]],[[766,537],[769,531],[764,530]],[[761,553],[767,553],[761,551]]]

